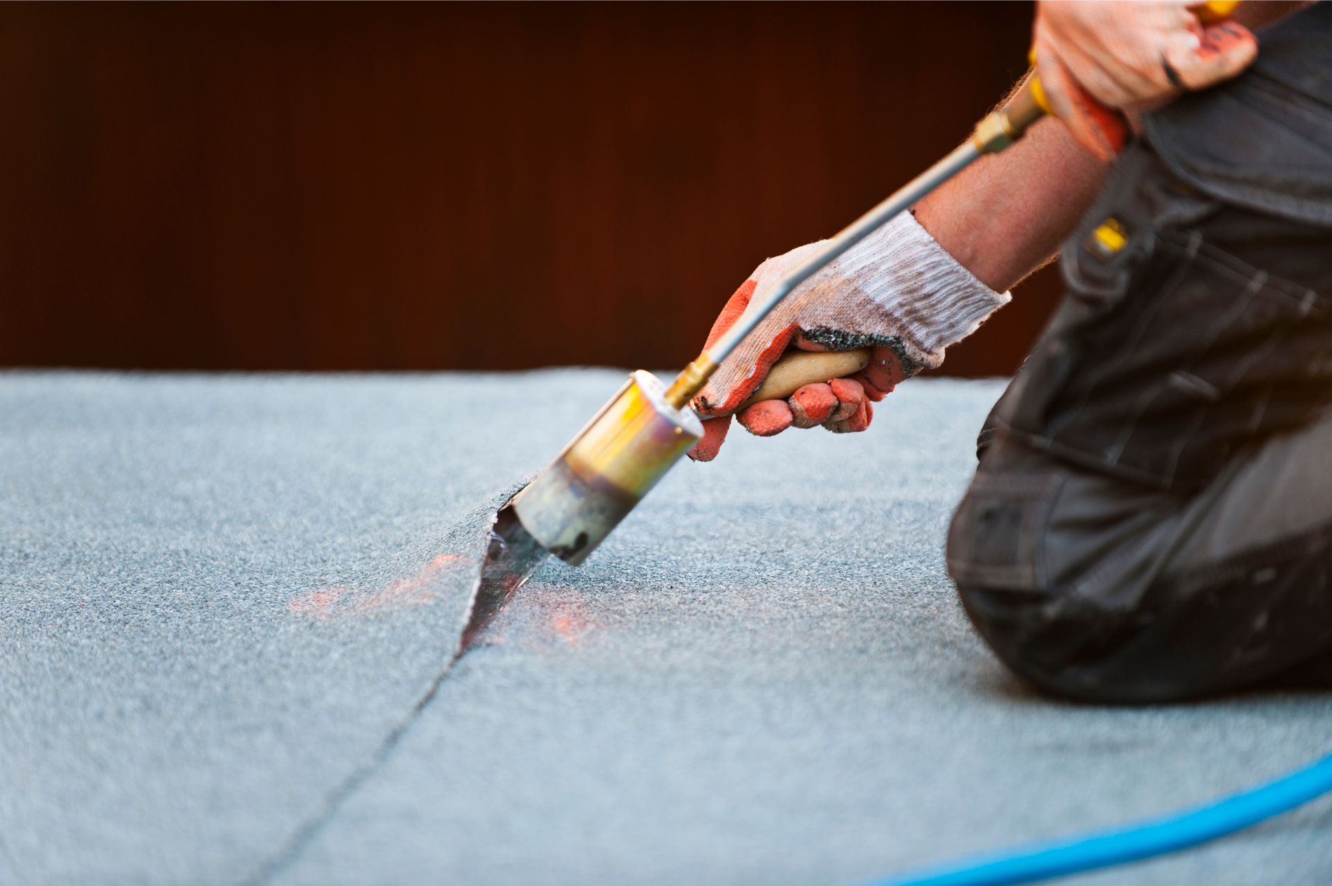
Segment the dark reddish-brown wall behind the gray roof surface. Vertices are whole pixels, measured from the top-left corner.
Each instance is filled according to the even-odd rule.
[[[1030,0],[0,7],[0,363],[679,366],[952,148]],[[946,370],[1011,372],[1043,271]]]

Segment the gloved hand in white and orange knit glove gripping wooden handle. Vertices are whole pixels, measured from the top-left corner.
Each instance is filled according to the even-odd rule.
[[[819,243],[770,258],[735,290],[705,347],[743,317]],[[943,350],[975,331],[1008,302],[959,265],[915,218],[903,213],[862,239],[839,259],[801,283],[731,353],[693,402],[703,418],[703,439],[689,451],[710,462],[730,430],[731,415],[763,383],[789,347],[847,351],[871,347],[870,365],[854,376],[806,384],[787,400],[754,403],[737,418],[759,436],[786,428],[863,431],[892,387],[943,362]]]

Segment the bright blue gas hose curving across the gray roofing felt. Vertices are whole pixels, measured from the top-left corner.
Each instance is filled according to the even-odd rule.
[[[920,870],[870,886],[1007,886],[1163,855],[1233,834],[1332,792],[1332,756],[1215,804]]]

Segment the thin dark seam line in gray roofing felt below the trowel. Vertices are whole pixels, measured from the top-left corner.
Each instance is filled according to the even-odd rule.
[[[440,685],[445,678],[453,672],[453,666],[458,664],[472,648],[470,644],[465,644],[464,639],[474,636],[477,628],[482,625],[486,620],[492,619],[500,607],[503,605],[505,600],[489,600],[481,604],[478,608],[478,592],[481,589],[481,577],[485,568],[486,551],[490,545],[490,535],[494,529],[496,517],[498,512],[518,494],[522,487],[530,482],[530,476],[523,478],[521,483],[514,484],[505,492],[493,496],[489,502],[481,507],[473,510],[464,520],[454,524],[445,537],[444,548],[450,553],[461,553],[464,556],[470,555],[470,559],[476,563],[476,575],[468,584],[468,604],[464,609],[461,624],[458,624],[454,633],[453,641],[453,655],[445,663],[440,673],[436,674],[434,680],[417,700],[412,710],[389,730],[389,734],[384,738],[380,746],[376,749],[370,758],[357,766],[350,776],[344,778],[337,788],[330,790],[324,798],[324,804],[320,810],[310,817],[305,823],[296,829],[290,839],[282,845],[270,858],[264,861],[258,869],[246,879],[241,881],[245,886],[264,886],[264,883],[270,883],[276,877],[282,874],[288,867],[290,867],[305,851],[324,826],[328,825],[333,817],[341,809],[342,804],[346,802],[356,790],[366,782],[384,764],[388,761],[393,749],[397,748],[402,736],[406,734],[408,729],[417,721],[421,712],[425,710],[426,705],[434,698],[440,690]]]

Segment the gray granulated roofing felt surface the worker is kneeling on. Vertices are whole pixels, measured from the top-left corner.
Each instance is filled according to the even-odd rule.
[[[734,431],[450,670],[485,504],[621,378],[0,374],[0,882],[850,886],[1332,749],[1329,693],[1003,670],[942,561],[991,382]],[[1324,800],[1066,882],[1328,879]]]

